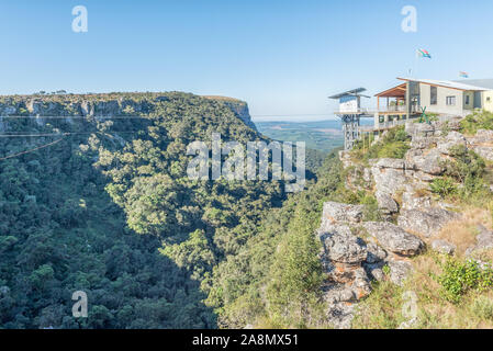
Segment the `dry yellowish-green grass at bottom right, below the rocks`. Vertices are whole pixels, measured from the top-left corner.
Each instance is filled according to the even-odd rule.
[[[416,329],[493,328],[493,291],[471,291],[459,303],[445,298],[433,274],[442,274],[437,254],[427,252],[413,260],[415,273],[397,286],[389,281],[374,284],[373,292],[359,304],[352,327],[357,329],[395,329],[408,320],[406,292],[416,296]]]

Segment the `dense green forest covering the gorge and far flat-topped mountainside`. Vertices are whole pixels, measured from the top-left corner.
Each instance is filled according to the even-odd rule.
[[[292,203],[270,213],[288,197],[281,182],[187,178],[193,140],[268,140],[234,102],[178,92],[30,99],[0,101],[25,116],[0,121],[0,327],[248,322],[235,308],[255,303],[243,296],[266,279],[269,269],[255,262],[269,264],[273,248],[256,242],[277,240],[295,218]],[[80,114],[80,100],[92,101],[91,114]],[[34,118],[36,109],[72,117]],[[98,117],[108,113],[120,115]],[[316,249],[307,236],[292,240]],[[71,316],[75,291],[88,294],[89,318]]]

